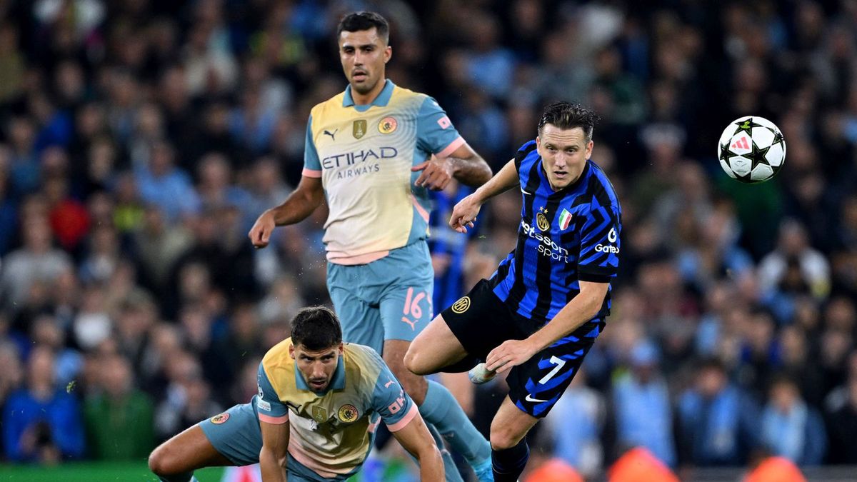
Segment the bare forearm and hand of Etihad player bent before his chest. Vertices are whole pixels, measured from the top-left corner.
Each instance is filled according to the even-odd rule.
[[[435,157],[411,167],[412,172],[422,171],[414,181],[417,186],[430,190],[443,190],[452,178],[469,186],[485,184],[491,178],[491,168],[465,142],[446,157]]]

